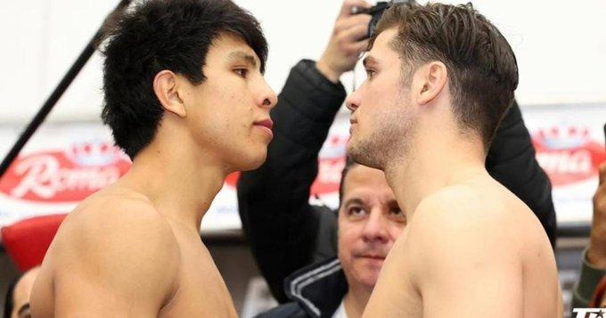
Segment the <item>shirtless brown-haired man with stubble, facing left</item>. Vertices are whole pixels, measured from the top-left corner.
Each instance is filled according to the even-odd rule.
[[[518,85],[512,48],[471,4],[395,5],[377,34],[348,151],[385,171],[408,225],[364,316],[561,316],[545,231],[485,168]]]

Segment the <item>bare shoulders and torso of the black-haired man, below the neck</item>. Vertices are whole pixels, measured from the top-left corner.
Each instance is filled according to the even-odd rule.
[[[32,294],[36,316],[235,316],[200,235],[119,185],[61,225]]]

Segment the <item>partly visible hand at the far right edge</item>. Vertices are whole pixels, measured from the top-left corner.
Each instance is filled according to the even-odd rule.
[[[594,220],[587,260],[597,268],[606,269],[606,162],[602,163],[599,170],[600,184],[594,195]]]

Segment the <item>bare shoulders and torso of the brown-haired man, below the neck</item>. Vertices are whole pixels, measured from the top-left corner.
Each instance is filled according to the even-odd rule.
[[[554,317],[561,298],[541,224],[487,175],[422,200],[366,307],[381,317]]]

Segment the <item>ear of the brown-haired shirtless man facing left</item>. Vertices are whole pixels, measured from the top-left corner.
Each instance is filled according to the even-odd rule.
[[[438,97],[446,87],[447,70],[441,61],[432,61],[417,71],[418,81],[414,90],[416,102],[425,105]]]

